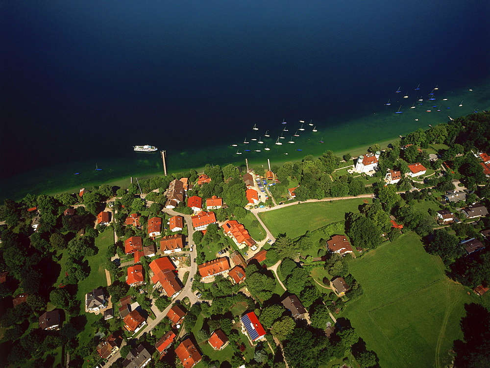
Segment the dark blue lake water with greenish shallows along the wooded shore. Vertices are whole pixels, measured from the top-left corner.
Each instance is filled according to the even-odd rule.
[[[100,180],[160,170],[158,154],[136,156],[134,145],[166,149],[173,167],[226,163],[245,157],[227,147],[254,133],[270,130],[274,147],[283,119],[285,137],[313,120],[325,149],[348,148],[392,122],[372,121],[376,135],[333,139],[331,129],[392,114],[389,98],[408,109],[436,86],[478,92],[458,116],[488,108],[478,87],[490,77],[489,10],[461,0],[2,2],[1,186],[76,185],[70,175],[96,164]],[[306,137],[290,157],[319,140]]]

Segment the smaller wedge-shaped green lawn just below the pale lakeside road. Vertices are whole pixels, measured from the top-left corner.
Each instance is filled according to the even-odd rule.
[[[358,207],[364,203],[363,199],[365,198],[301,203],[261,212],[259,216],[272,235],[286,233],[290,238],[297,238],[306,230],[313,231],[329,223],[344,220],[346,212],[359,212]]]

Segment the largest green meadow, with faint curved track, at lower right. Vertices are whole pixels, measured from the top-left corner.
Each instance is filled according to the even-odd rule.
[[[343,317],[377,353],[381,367],[450,364],[471,297],[445,276],[441,259],[426,253],[415,233],[349,262],[349,271],[364,294],[347,304]]]

